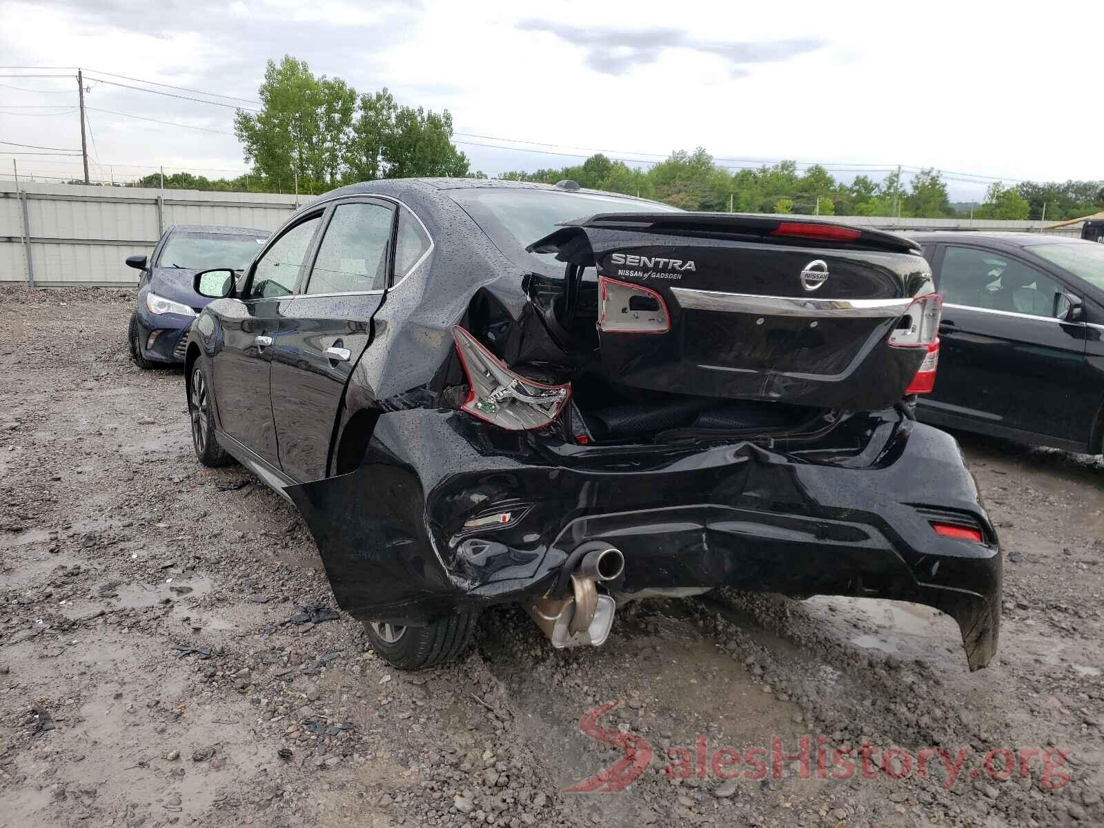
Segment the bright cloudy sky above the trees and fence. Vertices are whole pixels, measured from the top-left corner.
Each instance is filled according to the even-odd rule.
[[[953,199],[984,194],[983,177],[1104,178],[1097,10],[1019,8],[0,0],[0,63],[26,67],[0,73],[64,75],[0,77],[0,141],[79,148],[71,66],[82,66],[93,178],[160,164],[233,176],[246,164],[232,107],[252,104],[113,84],[255,100],[265,61],[291,54],[358,91],[386,86],[402,103],[448,108],[458,146],[491,174],[594,150],[654,161],[702,146],[731,168],[795,159],[843,179],[932,166]],[[17,149],[36,151],[0,145]],[[14,157],[28,173],[79,170],[79,158]],[[0,153],[0,174],[12,158]]]

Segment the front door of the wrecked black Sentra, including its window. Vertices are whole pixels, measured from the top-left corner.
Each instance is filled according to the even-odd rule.
[[[215,400],[222,431],[262,460],[279,467],[269,397],[272,346],[285,304],[295,294],[322,211],[286,227],[254,261],[241,301],[220,314],[222,343],[214,357]]]

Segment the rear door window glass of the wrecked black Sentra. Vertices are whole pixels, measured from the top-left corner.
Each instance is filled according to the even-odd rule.
[[[308,294],[350,294],[388,286],[391,208],[338,204],[310,272]]]

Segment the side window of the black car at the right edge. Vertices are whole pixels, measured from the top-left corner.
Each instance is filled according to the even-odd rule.
[[[947,245],[940,295],[952,305],[1049,317],[1061,286],[1019,259],[978,247]]]

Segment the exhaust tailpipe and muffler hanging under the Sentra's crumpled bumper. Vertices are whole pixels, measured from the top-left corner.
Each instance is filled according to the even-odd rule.
[[[624,571],[625,555],[603,544],[587,552],[571,574],[571,597],[534,598],[526,609],[556,649],[597,647],[609,636],[617,609],[617,602],[598,594],[597,585]]]

